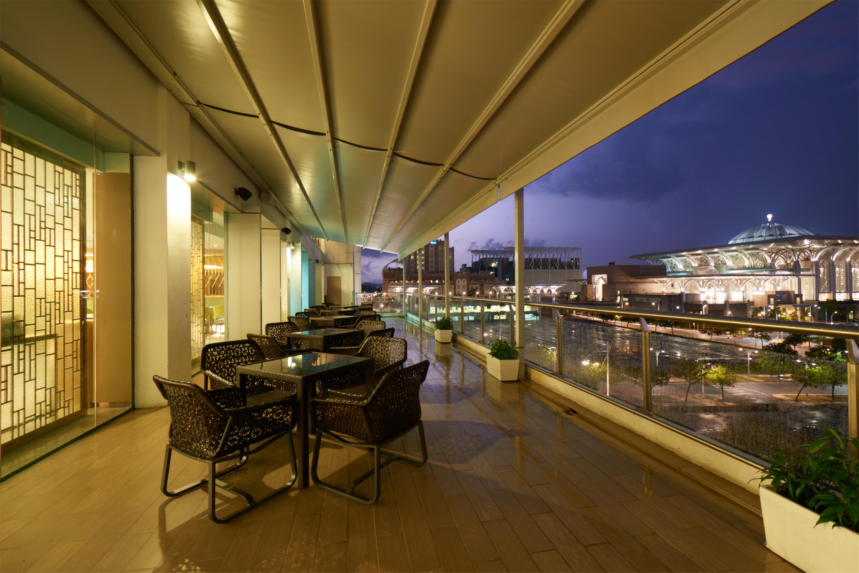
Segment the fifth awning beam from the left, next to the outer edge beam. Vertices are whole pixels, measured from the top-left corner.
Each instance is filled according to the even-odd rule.
[[[513,72],[503,82],[501,88],[498,89],[496,94],[492,96],[489,104],[484,107],[484,110],[478,115],[478,119],[476,119],[471,128],[466,131],[466,135],[460,139],[460,143],[457,143],[453,152],[451,152],[445,160],[444,165],[439,168],[436,175],[432,180],[430,180],[430,184],[426,186],[417,198],[417,201],[411,205],[411,209],[409,209],[405,214],[402,221],[399,222],[397,228],[393,229],[393,233],[387,238],[387,241],[385,241],[385,244],[382,245],[381,248],[387,247],[388,243],[393,240],[393,237],[396,236],[397,233],[399,233],[399,230],[403,228],[405,222],[414,215],[417,208],[420,207],[421,204],[423,204],[423,201],[430,196],[430,193],[436,188],[439,181],[442,180],[442,177],[444,177],[450,168],[454,166],[454,162],[460,158],[460,155],[465,153],[468,146],[471,145],[472,141],[474,141],[474,138],[478,136],[478,133],[480,133],[484,126],[489,123],[489,120],[493,115],[495,115],[504,101],[507,101],[509,95],[513,93],[513,90],[519,85],[519,82],[521,82],[527,75],[533,65],[537,63],[540,56],[542,56],[546,49],[551,46],[552,41],[557,38],[557,34],[561,33],[561,30],[564,29],[564,26],[567,25],[570,18],[576,14],[576,11],[582,8],[582,4],[584,4],[584,0],[566,0],[566,2],[564,2],[564,4],[557,10],[555,15],[552,16],[549,24],[543,28],[543,32],[541,32],[537,39],[534,40],[531,47],[528,48],[525,55],[519,60],[519,64],[516,64]]]

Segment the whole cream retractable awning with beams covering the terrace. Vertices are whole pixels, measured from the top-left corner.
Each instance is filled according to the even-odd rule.
[[[401,255],[826,3],[89,2],[302,230]]]

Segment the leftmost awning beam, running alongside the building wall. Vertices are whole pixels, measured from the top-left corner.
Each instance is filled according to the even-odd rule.
[[[116,15],[119,16],[119,19],[123,22],[123,24],[125,24],[125,27],[127,27],[128,32],[131,33],[135,38],[137,38],[137,40],[143,45],[146,51],[149,52],[149,55],[152,56],[152,58],[155,58],[155,61],[157,61],[158,64],[161,66],[163,74],[169,78],[169,81],[173,82],[174,86],[176,88],[179,88],[180,92],[185,94],[186,98],[193,102],[192,104],[184,103],[183,105],[186,105],[188,107],[196,107],[198,113],[202,116],[202,119],[204,120],[204,127],[209,128],[206,131],[209,131],[213,137],[217,137],[221,139],[223,143],[226,143],[226,149],[224,150],[227,152],[227,155],[229,155],[230,158],[236,162],[239,168],[244,171],[245,174],[251,180],[253,180],[253,182],[257,186],[263,188],[266,192],[270,192],[272,193],[272,195],[277,197],[277,195],[271,191],[271,186],[265,181],[263,176],[259,174],[259,171],[257,171],[257,169],[253,167],[253,164],[247,159],[247,157],[243,153],[241,153],[241,149],[239,149],[239,147],[235,143],[233,143],[233,141],[228,137],[227,133],[223,131],[222,127],[218,125],[218,123],[206,110],[206,108],[200,105],[197,96],[194,95],[194,93],[191,91],[191,88],[189,88],[187,84],[182,81],[182,78],[179,76],[179,74],[177,74],[175,70],[170,66],[170,64],[168,64],[168,61],[164,59],[163,56],[161,56],[161,53],[159,53],[155,49],[155,46],[153,46],[152,43],[149,42],[146,36],[143,35],[143,32],[140,31],[140,28],[138,28],[135,23],[131,21],[131,18],[129,18],[128,15],[125,14],[125,11],[119,7],[119,4],[116,3],[114,0],[108,0],[108,2],[106,3],[93,2],[92,0],[90,0],[88,1],[88,4],[94,10],[96,10],[96,12],[100,16],[102,16],[102,19],[105,15],[107,15],[107,13],[101,12],[102,6],[109,6],[110,9],[113,9]],[[110,25],[110,22],[108,22],[108,25]],[[114,32],[119,34],[119,30],[114,30]],[[153,71],[155,72],[155,70]],[[156,76],[157,75],[158,74],[156,73]],[[167,85],[167,83],[168,82],[165,82],[165,85]],[[304,235],[308,235],[307,230],[302,227],[302,224],[298,222],[298,219],[297,217],[295,217],[295,214],[290,211],[286,207],[286,205],[283,205],[283,209],[281,210],[283,211],[283,215],[287,217],[287,220],[289,220],[291,217],[291,221],[289,222],[295,225],[295,229],[300,230]]]

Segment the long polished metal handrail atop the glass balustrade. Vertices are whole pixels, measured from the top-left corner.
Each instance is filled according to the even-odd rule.
[[[423,295],[444,298],[443,295]],[[481,298],[477,296],[451,296],[451,301],[476,302],[478,304],[515,304],[498,298]],[[619,314],[621,316],[634,316],[636,318],[650,320],[679,320],[682,322],[704,322],[709,325],[743,326],[757,330],[771,330],[781,332],[797,332],[800,334],[823,334],[835,338],[859,338],[859,328],[855,326],[838,326],[821,322],[797,322],[794,320],[771,320],[752,319],[746,317],[719,316],[716,314],[685,314],[672,313],[661,310],[643,310],[640,308],[616,308],[596,307],[587,304],[558,304],[557,302],[530,302],[526,301],[528,307],[554,308],[557,310],[572,310],[582,313]]]

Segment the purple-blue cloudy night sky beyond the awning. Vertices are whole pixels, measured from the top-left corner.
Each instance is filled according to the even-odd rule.
[[[773,221],[859,235],[859,2],[839,0],[525,187],[531,246],[585,265],[728,242]],[[513,245],[513,197],[450,232]],[[381,283],[390,253],[364,249]]]

